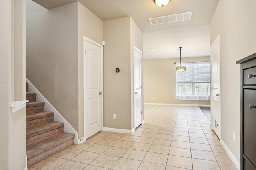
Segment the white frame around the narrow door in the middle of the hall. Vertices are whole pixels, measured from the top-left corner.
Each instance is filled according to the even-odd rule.
[[[138,53],[140,53],[141,54],[141,62],[140,62],[140,78],[141,78],[141,80],[140,80],[140,84],[141,84],[141,94],[140,94],[140,97],[141,97],[141,101],[140,101],[140,108],[141,108],[141,111],[142,111],[142,114],[140,115],[141,116],[141,124],[143,123],[143,117],[144,117],[144,113],[143,113],[143,78],[142,78],[142,76],[143,76],[143,67],[142,67],[142,61],[143,61],[143,58],[142,58],[142,51],[140,50],[140,49],[138,49],[135,45],[133,45],[133,51],[134,50],[136,50],[136,51],[138,51]],[[132,51],[132,52],[133,52]],[[135,116],[134,116],[134,114],[135,114],[135,106],[134,106],[134,102],[135,102],[135,100],[134,100],[134,96],[135,96],[135,94],[134,94],[134,90],[135,90],[135,86],[134,86],[134,80],[135,80],[135,76],[134,76],[134,53],[133,53],[133,64],[132,64],[132,66],[133,66],[133,84],[132,84],[132,87],[133,87],[133,90],[132,90],[132,96],[133,96],[133,102],[132,102],[132,106],[133,106],[133,114],[132,114],[132,121],[133,121],[133,128],[135,129]]]

